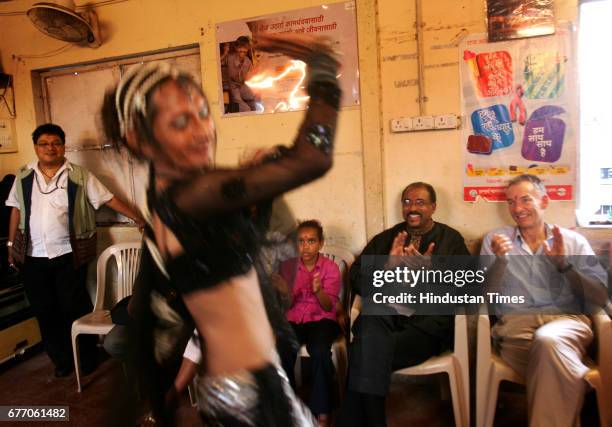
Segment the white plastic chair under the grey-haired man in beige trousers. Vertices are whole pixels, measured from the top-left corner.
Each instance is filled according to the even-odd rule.
[[[584,379],[597,392],[597,406],[602,427],[612,426],[612,321],[601,312],[591,316],[596,340],[596,361],[587,359],[590,370]],[[491,346],[491,323],[487,314],[478,316],[476,355],[476,425],[490,427],[495,420],[499,383],[525,384]],[[559,402],[559,404],[563,404]]]

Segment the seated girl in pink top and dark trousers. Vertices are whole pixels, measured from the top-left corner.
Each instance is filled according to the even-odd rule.
[[[300,344],[306,344],[312,365],[312,392],[308,406],[320,425],[328,425],[334,365],[331,345],[340,333],[336,303],[340,294],[340,270],[319,254],[323,228],[316,220],[302,222],[297,230],[299,258],[281,263],[273,281],[287,300],[286,312]],[[292,385],[297,349],[279,349],[283,368]]]

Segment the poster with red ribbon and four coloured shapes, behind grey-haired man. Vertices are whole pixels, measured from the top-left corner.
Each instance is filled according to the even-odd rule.
[[[505,200],[514,176],[531,173],[552,200],[572,200],[578,140],[574,34],[460,46],[463,199]]]

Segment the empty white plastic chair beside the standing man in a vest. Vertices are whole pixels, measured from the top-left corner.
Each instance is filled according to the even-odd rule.
[[[110,308],[132,293],[132,286],[140,265],[141,245],[141,242],[117,243],[106,248],[98,258],[94,309],[91,313],[72,323],[72,353],[79,392],[81,392],[81,359],[77,337],[81,334],[106,335],[113,328]],[[108,305],[105,307],[104,297],[108,285],[106,270],[111,259],[116,262],[117,280],[114,299],[108,301]]]

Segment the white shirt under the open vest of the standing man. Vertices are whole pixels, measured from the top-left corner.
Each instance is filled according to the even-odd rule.
[[[34,169],[32,184],[32,207],[30,211],[30,242],[28,255],[32,257],[56,258],[72,252],[68,229],[68,171],[72,165],[68,160],[48,183],[38,168],[38,160],[27,165]],[[6,206],[20,209],[16,194],[17,179],[6,199]],[[94,209],[113,198],[113,194],[92,174],[87,179],[87,198]],[[21,212],[24,215],[24,212]]]

